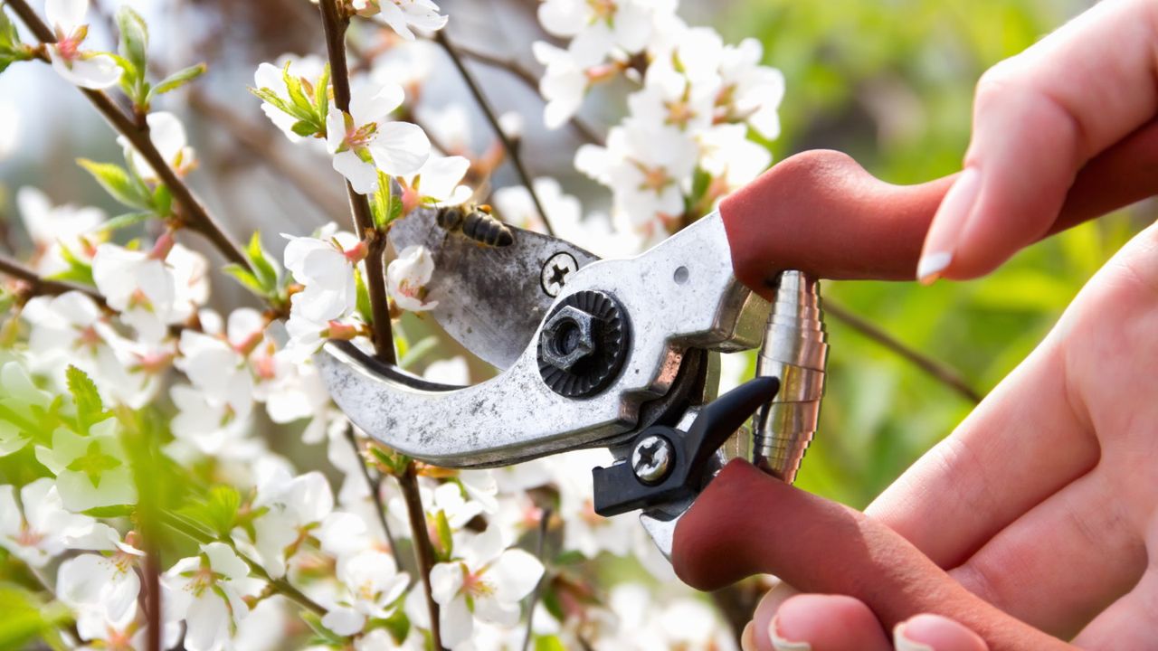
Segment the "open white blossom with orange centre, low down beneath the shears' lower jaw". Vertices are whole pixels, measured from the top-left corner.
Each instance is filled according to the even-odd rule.
[[[475,620],[511,627],[519,602],[543,576],[543,564],[521,549],[507,549],[503,533],[490,527],[461,547],[461,559],[431,570],[442,643],[459,648],[471,637]],[[457,549],[456,549],[457,551]]]

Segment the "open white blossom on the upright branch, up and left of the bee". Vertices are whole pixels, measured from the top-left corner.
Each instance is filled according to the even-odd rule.
[[[378,89],[361,85],[352,90],[350,112],[330,108],[325,129],[334,169],[357,192],[368,195],[378,189],[379,170],[390,176],[413,174],[430,156],[430,140],[418,125],[388,120],[403,96],[396,83]]]

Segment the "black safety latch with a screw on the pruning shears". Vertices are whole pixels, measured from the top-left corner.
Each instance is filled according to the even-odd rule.
[[[631,442],[625,461],[593,468],[595,513],[603,517],[695,497],[708,461],[780,388],[778,378],[754,378],[704,405],[687,432],[647,427]]]

